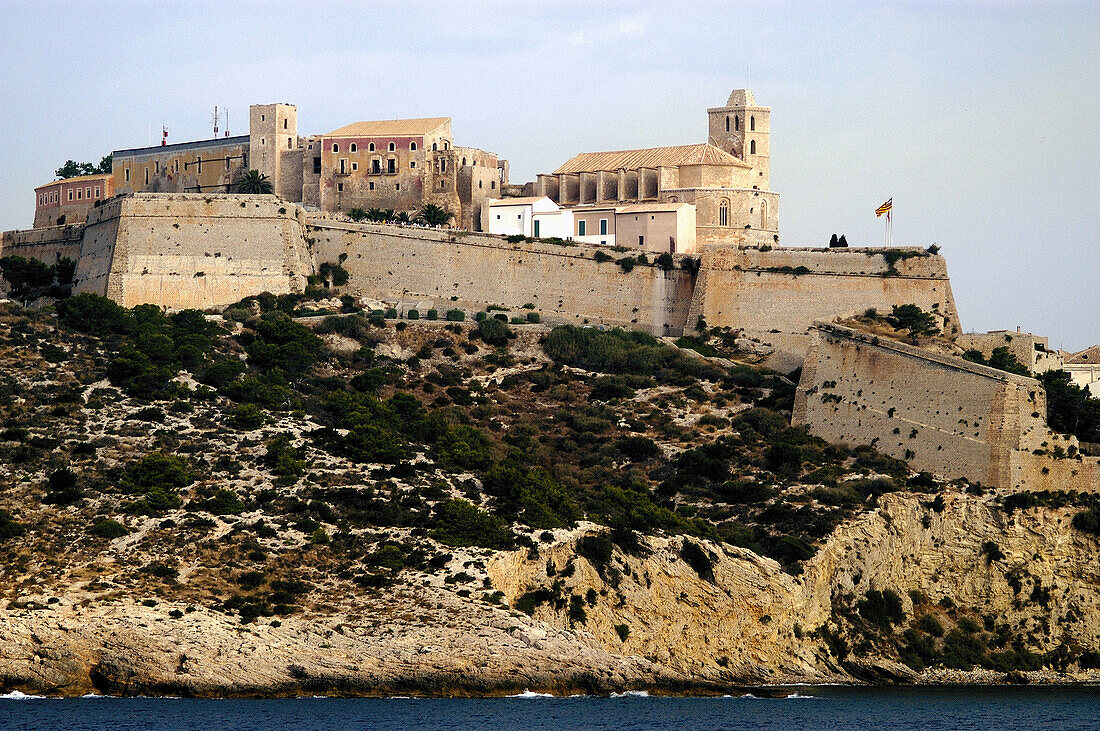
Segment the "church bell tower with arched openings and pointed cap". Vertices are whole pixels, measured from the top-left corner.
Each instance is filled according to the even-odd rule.
[[[758,107],[750,89],[734,89],[725,107],[706,110],[707,142],[752,166],[754,188],[771,189],[771,109]]]

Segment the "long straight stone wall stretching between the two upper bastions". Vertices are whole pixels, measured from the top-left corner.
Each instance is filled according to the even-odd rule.
[[[679,334],[692,298],[692,276],[639,265],[629,273],[593,255],[606,247],[525,242],[499,236],[351,224],[311,219],[315,261],[338,262],[351,287],[380,300],[430,299],[450,307],[520,308],[534,303],[550,322],[619,325]],[[678,264],[679,259],[678,258]]]

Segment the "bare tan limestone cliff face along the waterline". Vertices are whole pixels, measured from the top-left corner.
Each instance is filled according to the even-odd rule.
[[[895,590],[908,616],[909,591],[917,590],[930,602],[949,599],[1022,625],[1043,649],[1067,639],[1100,646],[1100,551],[1070,527],[1071,509],[1009,516],[991,496],[964,494],[946,494],[941,512],[931,502],[881,497],[877,510],[842,525],[801,576],[747,550],[696,541],[711,556],[712,580],[698,562],[682,558],[681,536],[647,539],[638,555],[616,550],[597,571],[576,555],[578,540],[597,530],[582,524],[488,565],[508,605],[524,606],[520,598],[540,588],[560,597],[536,603],[530,617],[428,586],[369,600],[355,616],[292,616],[280,627],[240,624],[205,609],[172,618],[168,605],[63,598],[47,609],[8,608],[0,610],[0,687],[58,695],[472,695],[1003,678],[919,678],[873,653],[840,662],[814,630],[833,621],[834,606],[867,589]],[[991,558],[989,543],[1003,557]]]

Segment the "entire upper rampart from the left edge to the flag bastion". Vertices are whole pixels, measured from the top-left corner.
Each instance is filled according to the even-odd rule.
[[[119,196],[96,207],[84,226],[4,234],[9,253],[77,259],[75,291],[128,307],[208,308],[265,290],[300,291],[315,267],[342,263],[349,290],[373,299],[432,300],[440,310],[532,303],[551,322],[658,335],[692,331],[702,317],[793,354],[794,365],[810,346],[814,320],[839,313],[913,302],[958,330],[944,259],[920,248],[716,245],[696,255],[697,274],[684,268],[683,256],[668,272],[652,265],[624,272],[614,261],[598,262],[597,253],[617,259],[638,252],[350,223],[273,196]]]

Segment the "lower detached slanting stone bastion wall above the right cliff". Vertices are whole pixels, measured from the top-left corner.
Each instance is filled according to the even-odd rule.
[[[1034,378],[818,322],[792,422],[917,469],[1014,489],[1100,490],[1100,459],[1046,424]]]

